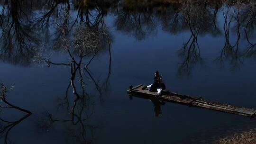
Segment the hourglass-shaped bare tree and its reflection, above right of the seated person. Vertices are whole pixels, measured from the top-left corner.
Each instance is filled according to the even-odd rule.
[[[198,9],[193,9],[192,7],[194,6],[198,7]],[[195,64],[199,62],[203,63],[197,37],[201,30],[203,30],[201,28],[206,24],[204,21],[207,14],[205,6],[205,4],[194,3],[194,1],[188,0],[181,8],[185,26],[189,27],[191,36],[188,41],[183,44],[183,48],[179,53],[179,56],[183,57],[183,62],[178,69],[180,74],[185,73],[186,75],[189,75]]]

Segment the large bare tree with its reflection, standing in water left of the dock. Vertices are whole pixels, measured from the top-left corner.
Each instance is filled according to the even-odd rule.
[[[48,58],[42,58],[46,62],[48,66],[50,65],[64,65],[70,67],[71,72],[71,78],[70,83],[66,89],[66,94],[64,99],[60,100],[58,107],[66,107],[67,110],[69,110],[69,97],[68,97],[68,91],[70,89],[70,86],[73,88],[73,95],[75,96],[75,99],[73,100],[73,106],[70,108],[71,110],[71,118],[69,119],[55,119],[52,114],[48,115],[48,121],[43,122],[43,124],[48,124],[48,126],[41,126],[41,127],[49,127],[53,126],[56,122],[64,122],[64,123],[71,123],[71,125],[68,125],[67,130],[71,137],[74,137],[76,143],[81,144],[87,144],[91,143],[94,140],[93,137],[93,130],[97,126],[91,126],[86,123],[86,120],[91,117],[93,113],[93,105],[91,102],[91,96],[86,93],[85,91],[85,82],[83,77],[85,74],[89,76],[89,79],[91,79],[96,89],[99,92],[100,98],[102,98],[102,92],[101,87],[99,86],[98,82],[95,81],[93,78],[90,70],[88,69],[91,61],[95,58],[95,56],[102,50],[102,39],[108,37],[106,31],[104,31],[104,27],[101,27],[102,29],[95,29],[94,27],[78,27],[77,33],[79,35],[75,35],[74,37],[74,46],[73,51],[71,51],[71,48],[69,46],[66,47],[66,50],[71,58],[70,63],[54,63]],[[66,40],[64,38],[64,40]],[[110,46],[110,40],[107,38],[107,42]],[[87,63],[84,62],[85,57],[90,56],[91,58]],[[78,58],[75,58],[78,57]],[[76,75],[79,75],[79,83],[75,82]],[[110,71],[107,76],[107,80],[110,77]],[[78,88],[79,87],[79,88]],[[82,90],[81,93],[78,91]]]

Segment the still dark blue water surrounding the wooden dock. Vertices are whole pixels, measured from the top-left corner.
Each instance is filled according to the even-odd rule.
[[[91,132],[90,126],[86,127],[86,134],[82,135],[99,144],[205,144],[255,126],[255,119],[248,117],[169,102],[161,106],[162,115],[155,117],[152,102],[136,97],[129,99],[126,92],[129,85],[150,84],[157,70],[163,75],[168,90],[231,105],[256,108],[255,59],[241,56],[242,62],[238,62],[236,66],[230,63],[229,58],[224,59],[223,65],[216,60],[225,45],[221,12],[218,13],[217,20],[222,34],[217,37],[210,34],[199,35],[202,63],[191,64],[189,71],[182,72],[179,67],[184,58],[179,56],[179,52],[183,43],[191,36],[188,29],[178,34],[170,34],[156,23],[155,30],[150,31],[154,34],[138,39],[132,32],[118,30],[115,25],[116,18],[117,16],[111,13],[105,17],[105,24],[112,37],[111,69],[109,70],[108,50],[98,54],[88,67],[101,87],[101,97],[86,72],[83,77],[86,83],[85,91],[91,97],[91,103],[83,114],[92,112],[83,123],[94,128]],[[236,33],[230,32],[232,45],[236,38]],[[243,51],[247,45],[245,36],[241,36],[239,50]],[[65,52],[49,49],[47,53],[51,53],[50,57],[55,62],[70,61]],[[85,57],[83,61],[88,62],[90,58]],[[8,100],[32,112],[30,117],[9,132],[10,141],[17,144],[84,143],[76,141],[81,128],[79,124],[51,124],[47,118],[49,113],[56,119],[71,118],[71,107],[75,99],[72,89],[68,91],[68,108],[60,106],[58,100],[64,98],[70,82],[69,66],[47,67],[34,61],[23,66],[2,61],[0,70],[0,82],[9,87],[15,86],[9,91]],[[109,82],[104,85],[109,72]],[[78,80],[77,75],[75,83],[81,92]],[[15,110],[5,110],[0,114],[0,117],[10,120],[22,116],[22,112]]]

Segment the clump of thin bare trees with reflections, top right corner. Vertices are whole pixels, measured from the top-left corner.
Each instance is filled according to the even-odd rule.
[[[235,5],[235,7],[233,6]],[[223,46],[220,56],[217,58],[220,65],[223,65],[224,60],[228,60],[231,65],[231,69],[235,70],[242,65],[243,59],[253,57],[255,44],[252,44],[248,38],[248,27],[251,31],[250,36],[254,36],[253,23],[255,19],[255,2],[250,1],[248,4],[244,4],[241,1],[229,1],[227,8],[222,9],[224,18],[224,33],[225,33],[225,45]],[[252,23],[251,23],[252,22]],[[232,25],[233,24],[233,27]],[[232,27],[232,29],[231,29]],[[233,30],[236,33],[236,41],[232,45],[230,43],[230,31]],[[245,35],[248,43],[248,47],[241,47],[239,45],[241,36]],[[243,50],[245,52],[243,52]]]

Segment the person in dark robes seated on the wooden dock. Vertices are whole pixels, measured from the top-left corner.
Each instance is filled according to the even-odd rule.
[[[165,84],[162,83],[162,77],[159,75],[158,71],[155,72],[154,83],[147,86],[147,89],[151,92],[157,92],[158,94],[162,90],[165,90]]]

